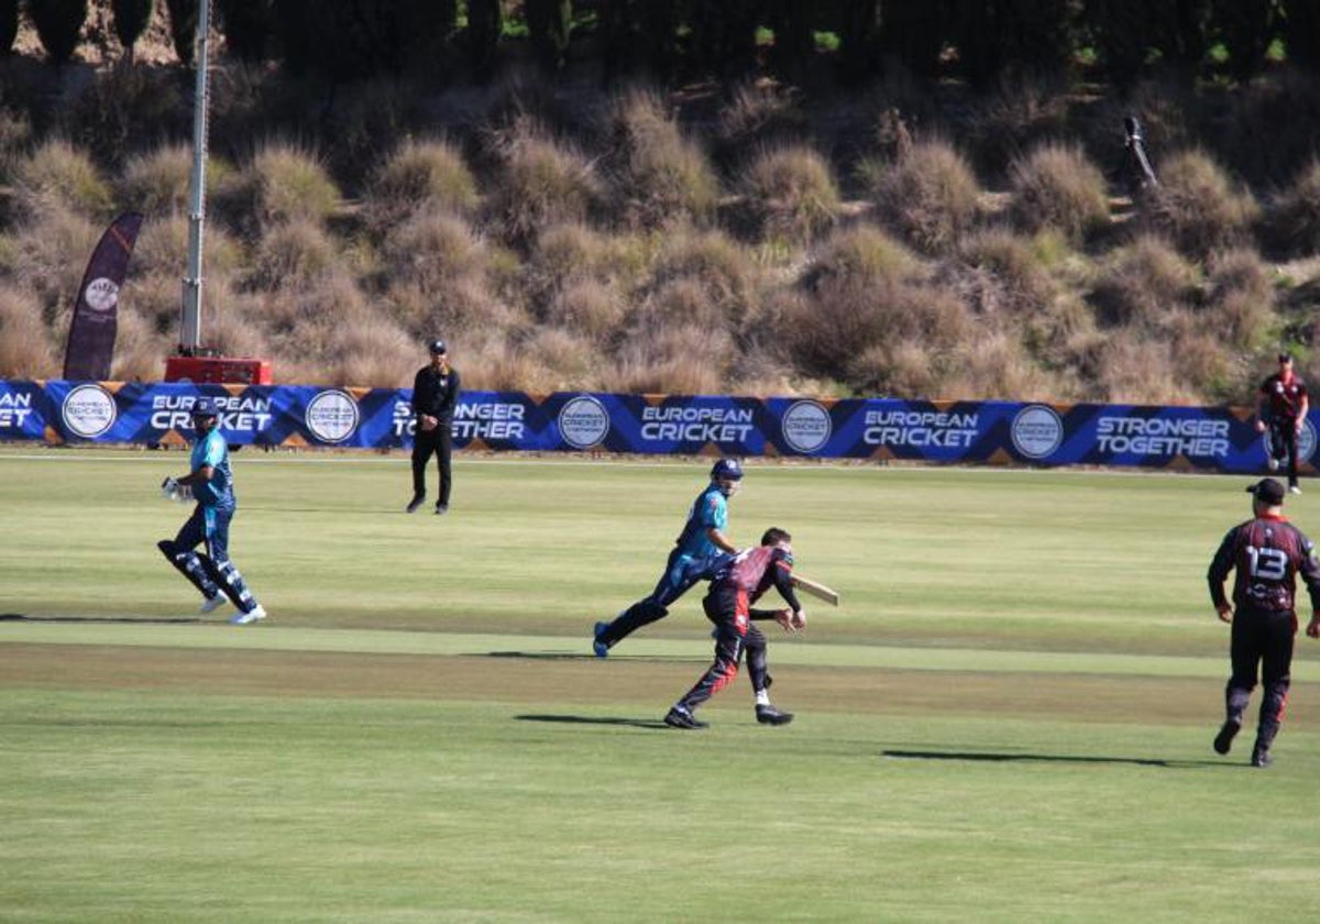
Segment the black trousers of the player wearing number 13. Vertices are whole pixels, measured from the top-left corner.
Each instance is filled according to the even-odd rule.
[[[1233,639],[1229,655],[1233,676],[1224,690],[1228,718],[1242,721],[1257,672],[1265,685],[1265,700],[1257,723],[1257,743],[1269,747],[1279,733],[1292,681],[1292,642],[1298,632],[1295,612],[1238,607],[1233,614]]]

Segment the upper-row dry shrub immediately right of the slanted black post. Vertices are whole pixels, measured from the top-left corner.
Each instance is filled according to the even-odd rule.
[[[1167,160],[1159,169],[1159,186],[1143,202],[1146,226],[1197,257],[1242,243],[1258,213],[1251,194],[1200,150]]]

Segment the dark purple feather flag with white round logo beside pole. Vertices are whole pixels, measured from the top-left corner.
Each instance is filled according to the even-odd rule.
[[[104,381],[115,355],[119,331],[119,290],[128,273],[128,257],[137,243],[143,216],[124,213],[111,223],[87,261],[78,304],[69,325],[65,375],[69,381]]]

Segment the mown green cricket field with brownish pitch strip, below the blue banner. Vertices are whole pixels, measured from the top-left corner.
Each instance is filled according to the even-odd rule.
[[[1209,747],[1249,479],[754,462],[734,537],[843,606],[771,642],[793,725],[739,678],[680,733],[697,591],[589,631],[708,462],[463,457],[436,517],[401,455],[244,450],[247,628],[154,548],[185,465],[0,451],[0,920],[1313,919],[1320,643],[1275,767]]]

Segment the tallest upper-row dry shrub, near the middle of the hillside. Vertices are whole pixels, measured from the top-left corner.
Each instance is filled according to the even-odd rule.
[[[615,190],[635,227],[704,223],[719,201],[719,180],[701,145],[685,137],[655,92],[620,95],[611,112]]]

